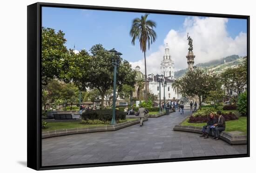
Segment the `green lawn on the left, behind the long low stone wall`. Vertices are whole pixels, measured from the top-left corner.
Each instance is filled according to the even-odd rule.
[[[138,120],[136,118],[127,118],[126,121],[134,121]],[[43,132],[51,131],[51,130],[61,130],[67,128],[87,128],[87,127],[94,127],[94,126],[106,126],[108,124],[82,124],[81,122],[48,122],[48,128],[42,129]]]

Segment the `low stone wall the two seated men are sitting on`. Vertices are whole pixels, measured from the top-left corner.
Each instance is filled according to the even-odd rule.
[[[202,127],[195,127],[195,126],[181,126],[176,125],[173,130],[175,131],[184,131],[184,132],[194,132],[202,134]],[[220,133],[220,139],[223,141],[228,142],[231,145],[234,144],[247,144],[247,135],[243,135],[242,132],[233,131],[233,132],[225,132],[222,131]]]

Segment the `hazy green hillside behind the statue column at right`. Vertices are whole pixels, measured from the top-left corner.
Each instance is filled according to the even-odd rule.
[[[225,60],[225,64],[224,64],[224,60]],[[226,58],[212,60],[207,63],[199,63],[199,64],[196,64],[195,66],[203,69],[207,69],[207,70],[213,70],[214,72],[219,74],[228,68],[234,68],[238,64],[242,64],[242,63],[243,63],[242,57],[239,57],[238,55],[232,55]],[[186,71],[187,69],[175,71],[174,72],[175,78],[182,77]]]

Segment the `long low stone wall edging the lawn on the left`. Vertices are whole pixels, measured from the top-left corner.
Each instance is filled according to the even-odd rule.
[[[145,118],[143,122],[148,121],[148,118]],[[83,134],[83,133],[92,133],[92,132],[104,132],[104,131],[115,131],[121,128],[126,128],[128,126],[132,126],[140,123],[140,120],[122,122],[115,125],[106,125],[106,126],[94,126],[88,128],[70,128],[64,130],[53,130],[42,132],[42,138],[56,137],[56,136],[64,136],[64,135],[74,135],[74,134]]]

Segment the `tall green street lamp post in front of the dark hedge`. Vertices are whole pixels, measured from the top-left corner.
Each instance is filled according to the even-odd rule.
[[[116,51],[115,48],[111,49],[109,52],[112,53],[112,65],[114,66],[114,83],[113,83],[113,112],[112,112],[112,120],[110,124],[116,124],[115,121],[115,92],[116,92],[116,69],[120,63],[120,56],[122,55],[120,52]]]

